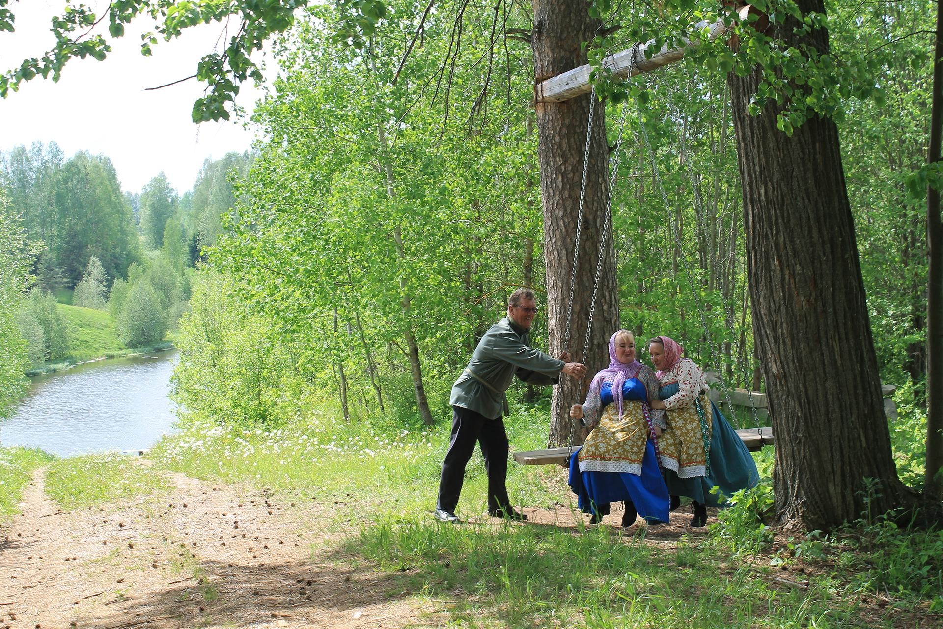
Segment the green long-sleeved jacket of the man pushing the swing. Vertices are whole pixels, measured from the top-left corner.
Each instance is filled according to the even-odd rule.
[[[527,331],[505,317],[478,341],[449,404],[497,419],[508,413],[505,391],[515,375],[528,384],[555,385],[565,364],[531,347]]]

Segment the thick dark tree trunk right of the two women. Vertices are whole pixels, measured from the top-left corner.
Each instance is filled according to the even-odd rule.
[[[803,13],[824,12],[799,0]],[[778,35],[795,39],[792,24]],[[809,36],[828,50],[822,29]],[[753,334],[776,433],[774,490],[783,523],[831,529],[866,510],[913,505],[898,480],[845,188],[838,131],[813,117],[792,137],[775,105],[747,112],[762,78],[730,74],[743,180]],[[864,492],[865,479],[877,479]]]

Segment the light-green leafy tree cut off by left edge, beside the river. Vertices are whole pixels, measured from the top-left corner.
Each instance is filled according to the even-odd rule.
[[[30,256],[25,229],[0,190],[0,420],[25,389],[28,345],[17,325],[17,311],[29,283]],[[35,332],[34,332],[35,334]]]

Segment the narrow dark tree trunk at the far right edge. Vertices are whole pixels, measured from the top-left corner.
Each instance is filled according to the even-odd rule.
[[[928,161],[940,161],[943,134],[943,2],[936,3],[933,102]],[[939,500],[943,494],[943,224],[940,193],[927,190],[927,463],[925,492]]]

